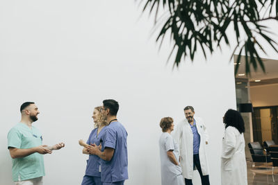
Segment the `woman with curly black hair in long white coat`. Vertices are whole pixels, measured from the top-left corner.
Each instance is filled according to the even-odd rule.
[[[223,122],[225,134],[222,141],[222,185],[247,185],[243,117],[236,110],[229,109]]]

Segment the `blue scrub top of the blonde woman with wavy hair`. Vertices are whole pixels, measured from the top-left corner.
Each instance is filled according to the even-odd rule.
[[[104,134],[104,130],[106,127],[103,127],[101,131],[99,132],[99,135],[97,135],[97,127],[92,130],[90,133],[89,139],[87,141],[87,144],[93,144],[95,143],[97,146],[101,143],[101,135]],[[102,143],[101,143],[102,145]],[[95,176],[95,177],[100,177],[100,172],[99,172],[99,166],[101,164],[101,159],[97,155],[89,155],[89,159],[87,160],[87,167],[85,171],[85,175],[90,175],[90,176]]]

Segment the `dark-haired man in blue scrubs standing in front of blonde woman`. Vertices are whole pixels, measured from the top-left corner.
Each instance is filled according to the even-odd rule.
[[[117,121],[119,104],[115,100],[104,100],[101,116],[108,123],[101,136],[101,150],[99,146],[90,146],[88,152],[99,156],[101,160],[101,182],[103,185],[122,185],[128,179],[127,173],[127,132]]]

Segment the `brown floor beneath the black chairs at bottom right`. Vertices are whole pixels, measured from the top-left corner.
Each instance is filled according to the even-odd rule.
[[[275,175],[265,175],[262,173],[254,173],[251,170],[252,164],[247,162],[247,177],[248,185],[278,185],[278,174]],[[276,167],[277,168],[277,167]]]

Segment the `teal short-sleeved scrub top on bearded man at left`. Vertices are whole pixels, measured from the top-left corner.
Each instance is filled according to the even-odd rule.
[[[8,132],[8,148],[33,148],[42,145],[42,134],[32,126],[32,129],[24,123],[17,123]],[[13,181],[33,179],[42,177],[44,172],[43,156],[38,152],[22,158],[12,159],[13,161]]]

